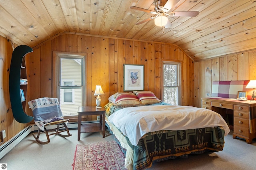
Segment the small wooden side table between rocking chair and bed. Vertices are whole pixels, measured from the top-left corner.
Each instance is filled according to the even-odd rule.
[[[96,108],[96,106],[79,106],[78,107],[78,137],[80,134],[86,132],[99,132],[102,131],[102,137],[105,137],[105,109]],[[100,121],[96,123],[83,123],[82,115],[100,115]]]

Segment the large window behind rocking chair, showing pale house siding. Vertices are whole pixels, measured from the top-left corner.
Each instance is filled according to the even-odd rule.
[[[85,55],[54,53],[56,66],[56,92],[64,116],[77,115],[85,103]],[[54,69],[54,68],[53,68]]]

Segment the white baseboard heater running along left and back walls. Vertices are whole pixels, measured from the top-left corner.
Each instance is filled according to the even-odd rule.
[[[95,123],[96,121],[85,121],[86,123]],[[84,123],[84,122],[82,122]],[[70,122],[68,123],[68,129],[77,129],[78,123],[77,122]],[[50,127],[50,126],[49,126]],[[52,126],[54,128],[54,125]],[[27,135],[31,132],[37,132],[38,127],[36,125],[29,125],[19,133],[17,133],[14,137],[6,141],[3,145],[0,146],[0,159],[4,157],[10,150],[12,150],[22,139],[24,139]],[[35,141],[36,142],[36,141]]]

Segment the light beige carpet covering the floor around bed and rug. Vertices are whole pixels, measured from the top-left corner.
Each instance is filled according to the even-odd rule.
[[[71,137],[51,136],[51,142],[38,144],[30,134],[4,156],[0,163],[8,163],[9,170],[72,170],[76,145],[113,141],[113,135],[102,138],[101,132],[82,133],[77,141],[77,130],[71,130]],[[225,137],[223,151],[189,155],[153,163],[147,170],[255,170],[256,140],[247,144],[233,139],[232,131]]]

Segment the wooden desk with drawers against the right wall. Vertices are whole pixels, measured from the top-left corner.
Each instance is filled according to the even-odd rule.
[[[240,137],[246,143],[252,143],[256,138],[256,101],[240,101],[231,98],[201,98],[202,108],[220,113],[222,117],[232,114],[229,120],[230,129],[234,130],[233,138]],[[227,116],[228,117],[228,116]],[[226,119],[227,121],[227,119]],[[233,129],[234,127],[234,129]]]

